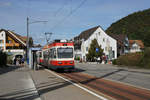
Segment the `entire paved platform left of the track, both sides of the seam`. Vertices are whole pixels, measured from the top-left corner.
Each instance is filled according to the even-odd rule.
[[[0,69],[0,100],[99,100],[52,73],[28,67]]]

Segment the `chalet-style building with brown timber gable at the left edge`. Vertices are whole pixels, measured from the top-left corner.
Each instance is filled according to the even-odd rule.
[[[26,40],[26,36],[21,36],[13,31],[5,29],[0,30],[0,49],[4,52],[25,54]],[[30,45],[32,45],[32,38],[30,38],[29,41]]]

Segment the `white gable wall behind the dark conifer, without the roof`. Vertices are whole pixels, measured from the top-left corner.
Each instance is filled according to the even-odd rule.
[[[101,45],[101,48],[104,49],[105,55],[109,55],[108,48],[112,48],[115,55],[113,59],[117,58],[117,41],[113,38],[111,38],[109,35],[107,35],[100,27],[81,45],[81,51],[82,51],[82,58],[83,56],[86,56],[88,51],[86,51],[86,48],[90,48],[90,44],[92,40],[97,39],[98,44]]]

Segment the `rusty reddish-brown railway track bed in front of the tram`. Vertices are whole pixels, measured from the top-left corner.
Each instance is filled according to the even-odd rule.
[[[73,82],[96,90],[116,100],[150,100],[150,91],[133,86],[105,80],[85,73],[59,73]]]

